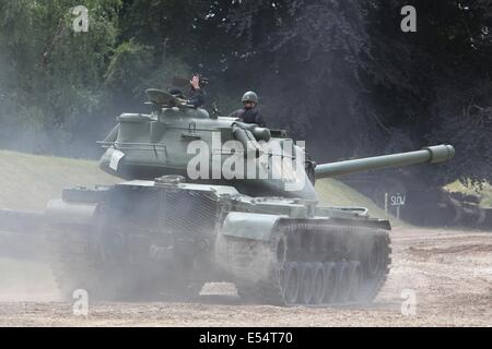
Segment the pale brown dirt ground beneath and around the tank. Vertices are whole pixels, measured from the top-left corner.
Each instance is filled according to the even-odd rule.
[[[371,306],[258,306],[214,297],[90,304],[89,316],[79,317],[72,304],[56,301],[45,269],[36,285],[17,290],[0,280],[0,326],[492,326],[491,232],[396,229],[391,237],[393,269]]]

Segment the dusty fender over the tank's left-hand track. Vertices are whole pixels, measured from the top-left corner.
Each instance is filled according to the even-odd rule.
[[[45,215],[51,225],[89,226],[94,224],[96,203],[67,203],[62,200],[52,200],[48,203]]]

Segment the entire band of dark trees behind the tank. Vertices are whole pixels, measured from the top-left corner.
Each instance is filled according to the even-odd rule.
[[[492,4],[414,0],[0,0],[0,146],[95,157],[121,112],[174,76],[224,113],[254,89],[318,161],[457,148],[438,183],[492,168]],[[71,9],[89,9],[87,33]],[[431,178],[431,176],[429,177]]]

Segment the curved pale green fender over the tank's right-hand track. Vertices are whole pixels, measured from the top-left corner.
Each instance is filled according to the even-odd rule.
[[[222,225],[222,234],[233,238],[269,241],[282,216],[232,212]]]

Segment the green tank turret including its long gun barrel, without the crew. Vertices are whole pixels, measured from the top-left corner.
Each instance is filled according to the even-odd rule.
[[[441,163],[453,158],[450,145],[419,152],[315,166],[285,132],[211,118],[200,108],[159,89],[147,92],[151,115],[125,113],[101,142],[107,151],[101,168],[122,179],[183,176],[197,183],[233,185],[250,196],[316,200],[315,178],[358,171]]]

